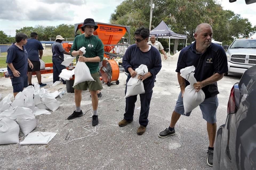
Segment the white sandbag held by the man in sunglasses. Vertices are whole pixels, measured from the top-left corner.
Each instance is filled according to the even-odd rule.
[[[137,69],[135,69],[137,75],[135,77],[131,77],[127,82],[127,90],[125,97],[134,96],[138,94],[145,93],[144,84],[142,80],[138,79],[139,75],[144,75],[148,73],[147,66],[141,64]]]

